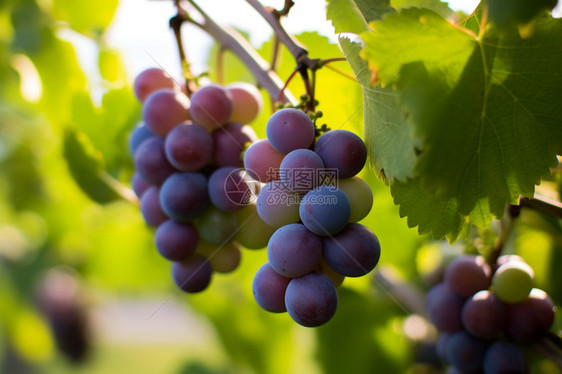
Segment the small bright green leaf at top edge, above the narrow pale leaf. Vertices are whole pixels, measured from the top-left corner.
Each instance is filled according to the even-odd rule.
[[[380,19],[389,10],[389,0],[328,0],[326,17],[336,33],[359,34],[369,30],[369,22]]]

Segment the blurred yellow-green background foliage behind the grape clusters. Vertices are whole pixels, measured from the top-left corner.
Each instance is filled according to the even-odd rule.
[[[254,302],[263,250],[245,250],[241,266],[216,275],[200,295],[175,290],[129,188],[128,136],[141,113],[122,56],[104,38],[117,7],[118,0],[0,0],[0,372],[440,372],[424,364],[434,362],[435,331],[416,316],[415,299],[403,303],[395,292],[423,294],[452,256],[489,250],[497,227],[452,246],[421,237],[367,169],[361,176],[375,202],[363,223],[379,236],[379,269],[391,285],[377,276],[346,280],[336,316],[316,329]],[[69,33],[96,46],[99,97]],[[342,55],[316,33],[298,39],[314,58]],[[267,59],[271,49],[265,43],[260,52]],[[234,56],[224,58],[225,82],[253,82]],[[215,63],[212,51],[212,79]],[[351,73],[345,63],[337,67]],[[283,54],[280,77],[293,69]],[[298,79],[289,86],[297,95],[302,87]],[[322,69],[317,92],[329,126],[362,135],[358,84]],[[254,123],[260,137],[265,109]],[[555,194],[559,186],[553,178],[547,189]],[[526,209],[506,245],[534,267],[537,286],[558,305],[561,247],[560,220]],[[533,362],[534,372],[557,372],[538,356]]]

